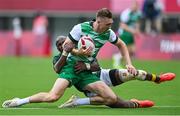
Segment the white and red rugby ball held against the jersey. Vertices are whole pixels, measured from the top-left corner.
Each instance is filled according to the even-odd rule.
[[[94,54],[95,51],[95,44],[93,39],[90,36],[82,36],[79,41],[78,41],[78,49],[81,49],[83,47],[83,49],[87,49],[87,48],[91,48],[91,55]]]

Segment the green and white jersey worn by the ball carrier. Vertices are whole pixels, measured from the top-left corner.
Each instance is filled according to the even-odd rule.
[[[71,32],[69,33],[68,37],[76,44],[79,41],[79,39],[84,36],[88,35],[90,36],[94,43],[95,43],[95,52],[92,55],[92,57],[85,57],[85,56],[73,56],[70,55],[68,57],[69,59],[75,59],[77,61],[84,61],[84,62],[91,62],[96,56],[100,48],[106,43],[111,42],[112,44],[115,44],[118,40],[118,37],[114,33],[112,29],[108,29],[107,31],[103,33],[97,33],[93,30],[93,21],[90,22],[84,22],[78,25],[75,25]]]

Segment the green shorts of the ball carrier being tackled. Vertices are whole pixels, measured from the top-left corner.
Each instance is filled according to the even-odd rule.
[[[59,78],[64,78],[70,82],[69,87],[76,85],[78,90],[82,91],[86,85],[100,80],[96,75],[92,74],[91,71],[83,71],[76,74],[74,72],[74,65],[74,60],[68,60],[59,74]]]

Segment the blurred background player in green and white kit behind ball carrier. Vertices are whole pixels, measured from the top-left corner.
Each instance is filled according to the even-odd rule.
[[[118,35],[127,45],[130,57],[134,56],[135,46],[134,38],[135,35],[139,34],[139,21],[141,18],[141,12],[139,5],[136,0],[133,0],[131,8],[125,9],[120,15],[120,23]],[[113,67],[121,68],[122,56],[120,53],[113,55]]]

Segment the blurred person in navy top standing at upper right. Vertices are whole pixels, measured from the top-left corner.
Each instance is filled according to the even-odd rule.
[[[142,27],[148,34],[161,32],[161,19],[164,5],[161,0],[144,0]]]

